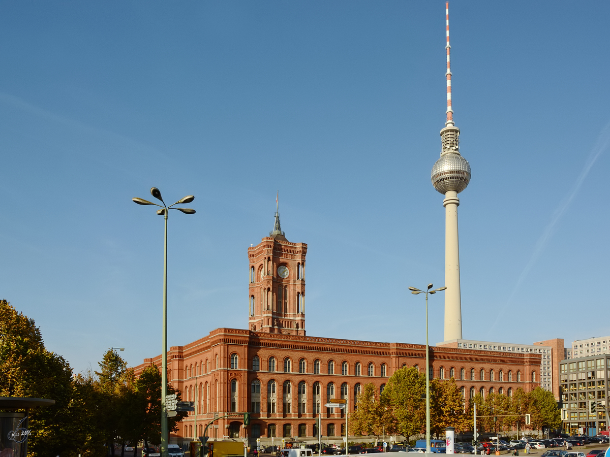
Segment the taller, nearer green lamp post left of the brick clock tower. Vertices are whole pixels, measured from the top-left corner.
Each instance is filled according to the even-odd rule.
[[[151,195],[159,200],[163,206],[137,197],[133,198],[132,200],[134,200],[134,202],[138,205],[154,205],[161,208],[160,210],[157,210],[157,214],[159,214],[159,216],[163,216],[165,219],[165,244],[163,248],[163,355],[161,358],[161,457],[167,457],[167,411],[165,410],[165,397],[167,396],[167,215],[170,212],[170,209],[182,211],[182,213],[185,214],[195,214],[195,210],[192,210],[191,208],[173,208],[174,205],[190,203],[195,200],[195,197],[192,195],[187,195],[173,205],[167,206],[165,205],[165,202],[163,202],[159,189],[152,187]]]

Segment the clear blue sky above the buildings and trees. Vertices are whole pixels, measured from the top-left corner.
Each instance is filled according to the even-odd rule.
[[[245,328],[307,243],[308,335],[425,343],[444,281],[445,2],[0,2],[0,298],[76,372]],[[454,0],[464,338],[610,335],[610,2]],[[443,296],[429,300],[443,339]]]

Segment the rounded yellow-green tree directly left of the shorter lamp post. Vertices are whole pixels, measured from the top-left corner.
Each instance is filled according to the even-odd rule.
[[[394,372],[381,394],[386,430],[399,433],[407,440],[425,429],[426,377],[417,368],[401,368]]]

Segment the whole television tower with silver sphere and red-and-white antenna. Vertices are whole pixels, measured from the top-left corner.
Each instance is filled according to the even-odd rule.
[[[458,193],[470,182],[470,164],[459,153],[459,129],[451,109],[451,62],[449,58],[449,2],[447,11],[447,122],[440,130],[440,158],[432,166],[430,179],[445,196],[445,341],[462,338],[462,303],[459,286]]]

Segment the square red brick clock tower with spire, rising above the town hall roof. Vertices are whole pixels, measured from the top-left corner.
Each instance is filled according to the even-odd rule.
[[[307,244],[286,239],[276,208],[269,236],[248,248],[249,330],[305,335],[306,253]]]

